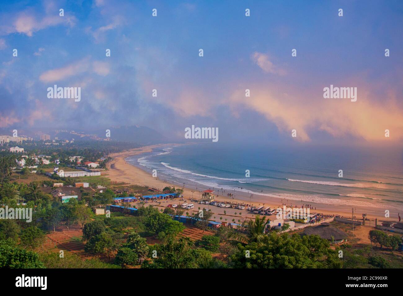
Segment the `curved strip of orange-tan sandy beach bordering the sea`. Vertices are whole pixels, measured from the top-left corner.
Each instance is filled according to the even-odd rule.
[[[140,168],[137,168],[131,164],[128,164],[125,161],[126,157],[132,156],[132,155],[138,155],[141,153],[147,153],[147,152],[152,152],[153,149],[156,147],[161,147],[161,146],[176,146],[176,145],[181,145],[181,144],[160,144],[160,145],[152,145],[152,146],[145,146],[145,147],[140,147],[136,149],[130,149],[127,151],[123,151],[120,153],[112,153],[109,156],[112,157],[112,161],[108,164],[108,170],[105,172],[105,175],[110,178],[112,181],[117,181],[117,182],[125,182],[127,184],[135,184],[135,185],[141,185],[141,186],[149,186],[153,188],[159,188],[162,189],[165,186],[172,186],[172,183],[170,182],[164,182],[164,179],[160,178],[153,178],[152,174],[145,172],[141,170]],[[183,185],[182,185],[183,186]],[[179,184],[176,184],[175,187],[182,187]],[[189,199],[192,197],[195,199],[200,199],[201,198],[201,191],[208,189],[208,188],[184,188],[184,197],[185,199]],[[217,192],[216,192],[217,193]],[[247,198],[235,198],[233,199],[232,197],[229,197],[227,195],[220,195],[216,194],[216,201],[231,201],[232,203],[244,203],[244,204],[249,204],[249,199]],[[262,200],[263,199],[263,200]],[[283,203],[287,204],[287,201],[285,199],[279,199],[275,197],[262,197],[259,199],[258,202],[251,201],[251,204],[254,206],[257,205],[264,205],[265,206],[270,206],[272,208],[277,208],[278,206],[281,206]],[[289,201],[288,202],[293,203],[293,205],[297,205],[298,207],[301,207],[301,202],[297,201]],[[323,213],[324,215],[341,215],[344,217],[351,217],[351,211],[347,211],[346,209],[335,209],[334,205],[326,205],[326,204],[320,204],[319,206],[316,205],[316,210],[311,209],[311,213]],[[355,217],[361,218],[361,212],[360,211],[355,211]],[[249,215],[248,215],[249,216]],[[379,220],[393,220],[395,221],[397,217],[390,217],[390,218],[385,218],[381,215],[373,215],[370,213],[367,213],[367,217],[369,219],[375,219],[378,218]]]

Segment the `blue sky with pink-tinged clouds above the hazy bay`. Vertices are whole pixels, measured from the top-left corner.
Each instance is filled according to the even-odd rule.
[[[0,128],[401,144],[402,27],[401,1],[2,1]],[[54,85],[81,100],[48,98]]]

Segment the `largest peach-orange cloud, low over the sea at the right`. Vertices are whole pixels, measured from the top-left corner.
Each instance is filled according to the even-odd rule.
[[[273,95],[269,91],[253,89],[250,97],[245,90],[238,90],[229,99],[237,114],[249,108],[263,114],[276,124],[280,132],[291,137],[297,130],[298,141],[310,141],[310,133],[325,131],[333,137],[353,136],[366,141],[399,141],[403,139],[403,110],[395,100],[384,99],[381,103],[371,100],[364,91],[356,102],[350,99],[309,99],[301,95]],[[385,137],[385,130],[390,137]]]

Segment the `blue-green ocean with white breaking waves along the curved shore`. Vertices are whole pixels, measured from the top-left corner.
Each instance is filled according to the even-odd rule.
[[[403,213],[402,149],[203,143],[167,145],[126,161],[150,174],[157,170],[159,179],[176,187],[233,193],[252,203],[270,199],[279,205]]]

